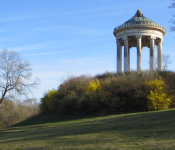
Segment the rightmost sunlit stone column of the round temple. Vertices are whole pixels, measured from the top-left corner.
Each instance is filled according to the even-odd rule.
[[[158,52],[157,52],[157,58],[158,58],[158,70],[163,71],[163,61],[162,61],[162,43],[163,39],[160,39],[158,41]]]

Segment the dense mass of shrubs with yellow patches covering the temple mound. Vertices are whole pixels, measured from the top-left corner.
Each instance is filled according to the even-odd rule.
[[[40,109],[64,114],[168,109],[174,107],[174,75],[142,71],[71,77],[44,95]]]

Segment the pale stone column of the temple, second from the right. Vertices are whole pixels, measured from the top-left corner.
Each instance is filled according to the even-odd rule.
[[[155,54],[154,54],[154,46],[155,46],[156,37],[150,37],[150,70],[155,70]]]

